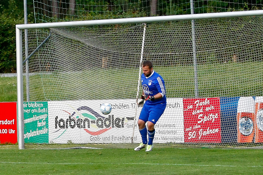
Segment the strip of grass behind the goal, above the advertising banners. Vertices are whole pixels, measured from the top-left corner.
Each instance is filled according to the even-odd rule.
[[[217,63],[198,67],[200,97],[262,96],[262,63]],[[195,97],[193,66],[156,67],[165,79],[168,98]],[[100,77],[100,78],[98,78]],[[106,77],[106,78],[104,78]],[[126,79],[120,86],[120,79]],[[96,81],[91,81],[91,80]],[[10,83],[10,84],[8,84]],[[0,78],[0,102],[15,102],[16,77]],[[30,77],[32,101],[136,98],[138,70],[92,69],[38,74]],[[24,98],[25,93],[24,81]],[[107,90],[105,90],[107,89]],[[122,92],[125,89],[125,93]],[[102,93],[102,96],[98,94]]]

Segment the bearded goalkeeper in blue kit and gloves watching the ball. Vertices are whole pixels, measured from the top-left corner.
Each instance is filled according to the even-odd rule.
[[[142,143],[140,143],[140,145],[134,150],[139,151],[146,148],[146,151],[151,151],[153,149],[153,139],[155,134],[154,125],[159,120],[166,107],[166,90],[164,79],[153,70],[152,62],[143,62],[142,70],[141,85],[143,93],[137,102],[140,107],[143,106],[138,120]],[[146,122],[147,128],[145,126]]]

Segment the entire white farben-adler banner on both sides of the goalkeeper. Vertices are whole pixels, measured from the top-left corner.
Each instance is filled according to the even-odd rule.
[[[102,103],[112,112],[100,112]],[[140,143],[135,99],[48,102],[49,143]],[[183,100],[169,99],[155,125],[154,142],[183,142]]]

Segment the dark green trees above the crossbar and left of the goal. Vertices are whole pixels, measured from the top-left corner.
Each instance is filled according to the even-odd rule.
[[[262,9],[262,0],[194,0],[194,8],[255,10]],[[113,19],[190,14],[190,0],[27,0],[27,9],[28,23]],[[23,0],[0,0],[0,22],[0,73],[16,72],[15,25],[24,23]]]

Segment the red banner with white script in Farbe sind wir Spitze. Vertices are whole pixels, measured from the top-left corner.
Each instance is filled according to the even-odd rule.
[[[184,98],[184,141],[219,143],[220,98]]]

